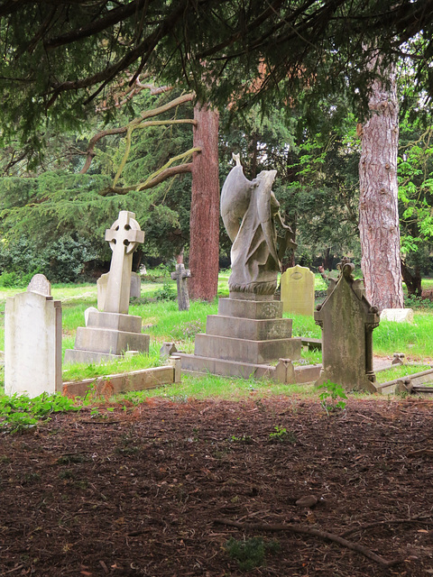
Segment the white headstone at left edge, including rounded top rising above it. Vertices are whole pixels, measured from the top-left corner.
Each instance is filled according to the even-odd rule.
[[[61,391],[61,303],[51,297],[50,282],[36,276],[27,292],[6,298],[6,395]]]

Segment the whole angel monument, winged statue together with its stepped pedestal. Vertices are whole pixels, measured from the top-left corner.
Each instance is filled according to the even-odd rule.
[[[221,193],[221,215],[230,239],[232,274],[229,298],[220,298],[218,314],[207,316],[206,334],[197,334],[194,354],[182,354],[182,370],[248,377],[264,374],[267,363],[298,359],[300,338],[291,338],[291,320],[273,299],[281,257],[292,242],[272,192],[275,170],[245,179],[239,156]],[[275,220],[285,229],[277,241]],[[240,220],[242,222],[240,223]]]

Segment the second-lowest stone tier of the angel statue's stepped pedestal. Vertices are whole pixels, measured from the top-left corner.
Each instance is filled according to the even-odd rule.
[[[263,364],[280,358],[294,361],[299,359],[300,352],[300,338],[253,341],[214,334],[197,334],[194,349],[198,356],[253,364]]]

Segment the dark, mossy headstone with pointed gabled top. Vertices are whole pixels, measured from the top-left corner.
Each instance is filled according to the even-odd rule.
[[[314,313],[322,328],[323,369],[317,385],[330,380],[346,390],[375,392],[373,385],[373,329],[379,325],[376,307],[364,296],[362,280],[355,280],[353,264],[345,264],[323,305]]]

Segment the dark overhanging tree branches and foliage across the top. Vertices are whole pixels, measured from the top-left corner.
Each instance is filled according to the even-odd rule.
[[[235,110],[270,92],[363,96],[380,50],[433,96],[433,0],[4,0],[0,19],[6,142],[46,119],[77,128],[143,73]]]

